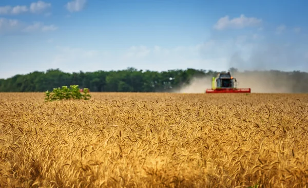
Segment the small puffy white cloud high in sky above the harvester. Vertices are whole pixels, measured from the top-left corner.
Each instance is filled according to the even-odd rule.
[[[256,17],[246,17],[244,14],[241,14],[240,17],[235,17],[232,20],[229,19],[228,15],[226,15],[218,20],[218,22],[214,25],[214,29],[242,29],[245,27],[257,27],[260,26],[261,23],[261,19]]]

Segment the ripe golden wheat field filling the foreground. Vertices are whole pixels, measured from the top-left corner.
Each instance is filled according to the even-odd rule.
[[[308,95],[0,93],[2,187],[306,187]]]

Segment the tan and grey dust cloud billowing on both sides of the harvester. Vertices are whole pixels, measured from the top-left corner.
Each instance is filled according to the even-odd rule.
[[[279,45],[271,40],[271,37],[266,37],[264,44],[254,44],[248,53],[234,52],[230,56],[228,67],[238,69],[231,72],[237,79],[237,88],[251,88],[252,93],[305,92],[307,89],[302,88],[307,86],[308,78],[285,72],[286,69],[307,70],[307,61],[298,50],[295,44]],[[274,71],[277,69],[285,71]],[[176,92],[202,93],[207,88],[211,88],[211,77],[194,78],[189,85],[177,89]]]

